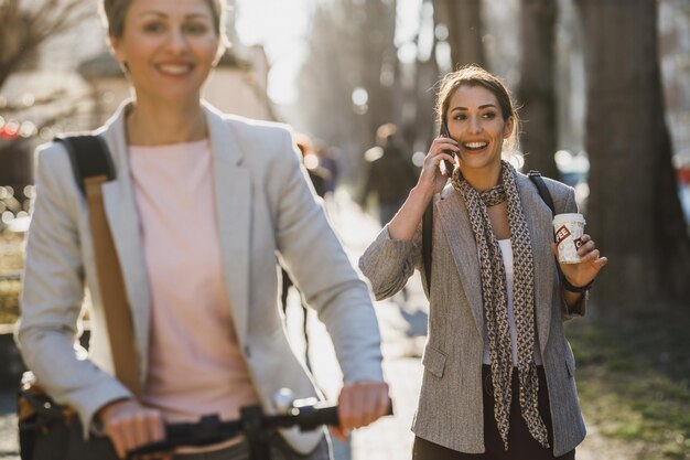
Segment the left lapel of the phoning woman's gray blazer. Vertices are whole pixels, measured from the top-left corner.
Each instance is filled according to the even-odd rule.
[[[470,214],[460,194],[446,189],[445,196],[438,201],[438,211],[448,237],[453,260],[460,272],[467,302],[477,324],[479,334],[484,331],[484,308],[482,281],[479,279],[479,255],[470,223]]]

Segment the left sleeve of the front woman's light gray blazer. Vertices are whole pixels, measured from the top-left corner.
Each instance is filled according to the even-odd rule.
[[[77,410],[86,435],[98,408],[130,393],[78,344],[85,290],[78,192],[62,147],[41,148],[37,159],[17,341],[47,393]]]

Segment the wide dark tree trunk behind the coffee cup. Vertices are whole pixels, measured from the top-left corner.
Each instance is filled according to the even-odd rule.
[[[610,311],[690,299],[690,240],[665,121],[653,0],[578,0],[585,36],[589,233],[611,264],[596,289]]]

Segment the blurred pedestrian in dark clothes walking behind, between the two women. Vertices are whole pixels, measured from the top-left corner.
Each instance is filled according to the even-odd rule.
[[[369,195],[375,194],[378,221],[384,226],[396,215],[417,182],[417,170],[406,156],[393,124],[381,125],[376,130],[376,147],[365,154],[369,164],[358,202],[364,206]]]

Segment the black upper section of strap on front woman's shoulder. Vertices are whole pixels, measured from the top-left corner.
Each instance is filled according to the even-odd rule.
[[[85,195],[84,181],[97,175],[107,176],[108,181],[115,179],[115,167],[105,140],[100,136],[80,135],[56,137],[56,141],[62,142],[69,153],[74,179]]]

